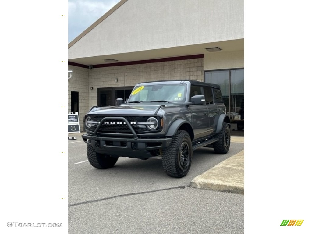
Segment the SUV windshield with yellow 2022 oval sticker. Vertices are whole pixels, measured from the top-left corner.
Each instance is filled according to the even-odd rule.
[[[129,102],[185,102],[187,85],[142,85],[134,87]]]

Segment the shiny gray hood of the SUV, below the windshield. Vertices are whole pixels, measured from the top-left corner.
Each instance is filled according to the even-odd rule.
[[[88,115],[156,115],[156,111],[166,106],[164,103],[158,104],[128,104],[120,106],[96,107],[90,110]]]

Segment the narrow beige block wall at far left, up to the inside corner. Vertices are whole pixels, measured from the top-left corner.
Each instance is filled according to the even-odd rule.
[[[79,92],[79,124],[83,131],[83,117],[89,108],[89,69],[68,65],[72,70],[71,79],[68,79],[68,113],[71,111],[71,91]]]

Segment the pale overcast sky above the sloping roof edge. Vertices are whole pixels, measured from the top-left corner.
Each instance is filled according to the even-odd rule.
[[[68,0],[68,43],[120,0]]]

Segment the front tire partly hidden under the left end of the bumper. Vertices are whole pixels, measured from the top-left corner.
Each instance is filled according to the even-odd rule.
[[[89,144],[87,145],[87,157],[89,163],[98,169],[111,168],[118,160],[118,158],[113,158],[110,155],[96,153],[92,145]]]

